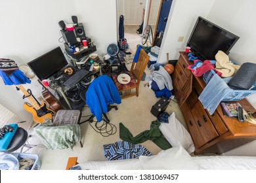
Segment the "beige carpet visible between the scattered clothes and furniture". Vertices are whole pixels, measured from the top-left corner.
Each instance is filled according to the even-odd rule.
[[[138,27],[134,28],[137,29]],[[139,35],[135,33],[135,36]],[[131,52],[134,53],[136,45],[140,44],[140,37],[138,38],[133,35],[129,35],[126,38],[130,48],[133,48]],[[127,67],[131,67],[131,64],[127,65]],[[148,75],[151,71],[146,68],[145,73]],[[85,124],[81,124],[83,148],[81,148],[80,144],[75,145],[73,150],[70,148],[64,150],[51,150],[34,147],[28,150],[28,152],[39,155],[42,170],[64,170],[66,169],[66,163],[68,162],[69,157],[77,157],[79,163],[84,163],[86,161],[106,161],[103,154],[103,145],[121,141],[121,139],[119,139],[120,122],[122,122],[135,136],[142,131],[150,129],[151,122],[156,120],[156,117],[150,113],[150,110],[152,105],[154,105],[159,99],[156,98],[154,92],[148,88],[148,86],[144,86],[144,84],[146,84],[145,81],[140,82],[139,97],[135,96],[123,99],[121,104],[118,105],[118,110],[112,109],[107,113],[110,123],[117,127],[116,134],[110,135],[110,137],[102,137],[102,135],[96,133],[93,127],[91,127],[87,122]],[[169,114],[175,112],[177,119],[186,127],[184,118],[177,103],[171,101],[165,112],[168,112]],[[89,114],[91,114],[89,108],[85,107],[82,116],[87,116]],[[85,119],[86,118],[82,118],[82,120]],[[32,135],[32,138],[29,140],[31,144],[41,144],[39,139],[34,135],[33,128],[29,133]],[[152,154],[158,154],[161,150],[152,141],[146,141],[142,143],[142,145],[152,152]],[[24,148],[24,150],[26,150],[26,148]]]

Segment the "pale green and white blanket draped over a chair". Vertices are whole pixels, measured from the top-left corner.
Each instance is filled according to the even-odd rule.
[[[46,148],[73,148],[81,141],[81,129],[78,124],[54,126],[51,121],[37,125],[35,134]]]

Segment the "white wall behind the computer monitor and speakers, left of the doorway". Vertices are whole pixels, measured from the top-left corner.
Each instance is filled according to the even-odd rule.
[[[95,41],[97,52],[106,54],[106,47],[117,39],[116,0],[9,0],[0,6],[0,58],[13,59],[18,65],[26,64],[63,43],[58,22],[72,23],[71,16],[85,26],[86,34]],[[0,78],[0,103],[31,121],[32,115],[22,107],[22,93],[14,86],[5,86]],[[41,95],[37,78],[25,88],[32,89],[35,97]]]

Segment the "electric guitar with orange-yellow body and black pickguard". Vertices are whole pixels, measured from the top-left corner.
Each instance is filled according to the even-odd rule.
[[[55,112],[51,108],[47,107],[46,101],[42,101],[42,104],[40,105],[34,99],[30,89],[27,91],[22,85],[18,85],[17,87],[22,91],[22,93],[24,93],[23,99],[27,98],[30,101],[31,104],[24,103],[23,107],[25,110],[32,113],[33,120],[36,123],[42,124],[53,119]]]

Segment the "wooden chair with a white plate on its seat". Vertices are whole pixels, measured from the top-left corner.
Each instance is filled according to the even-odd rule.
[[[131,71],[127,72],[127,74],[131,77],[131,81],[128,84],[121,84],[117,80],[117,75],[113,74],[112,79],[116,84],[116,88],[119,93],[122,93],[121,99],[125,99],[127,97],[139,96],[139,86],[140,80],[143,76],[143,73],[146,69],[146,65],[148,64],[150,57],[143,49],[140,49],[139,58],[137,63],[133,61],[131,65]],[[136,92],[135,92],[136,91]]]

